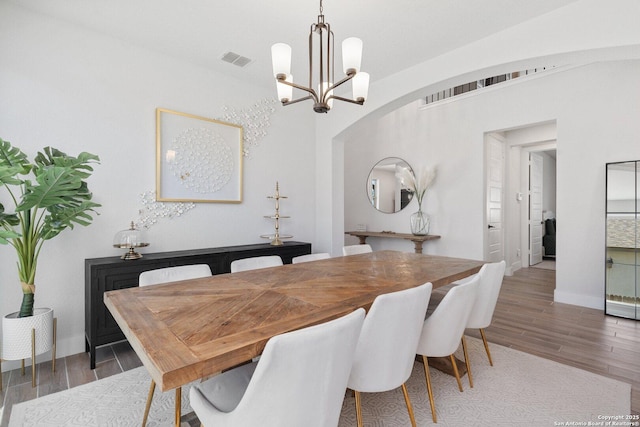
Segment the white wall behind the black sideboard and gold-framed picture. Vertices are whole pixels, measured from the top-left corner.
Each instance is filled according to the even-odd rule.
[[[47,242],[36,278],[36,305],[58,317],[58,355],[82,352],[84,259],[120,255],[114,234],[137,218],[139,195],[155,190],[155,108],[220,118],[224,106],[247,109],[275,93],[242,81],[241,69],[239,80],[214,75],[8,2],[0,2],[0,58],[0,137],[30,157],[52,145],[101,159],[89,180],[100,215]],[[259,236],[273,232],[263,216],[273,213],[266,196],[276,181],[289,197],[281,214],[291,216],[280,231],[314,241],[314,117],[275,107],[267,136],[245,158],[243,202],[198,204],[160,221],[141,252],[267,242]],[[0,246],[3,314],[21,300],[15,262],[13,249]]]

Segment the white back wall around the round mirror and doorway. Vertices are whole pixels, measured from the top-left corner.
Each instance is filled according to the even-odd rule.
[[[555,298],[602,308],[604,164],[640,158],[640,124],[634,119],[640,114],[639,72],[640,61],[549,72],[422,110],[412,103],[368,124],[345,143],[345,226],[366,218],[370,229],[407,231],[407,215],[415,204],[408,212],[377,215],[359,203],[361,188],[349,183],[356,181],[356,174],[366,176],[367,167],[381,155],[403,157],[412,165],[428,162],[438,166],[438,177],[427,192],[425,208],[432,233],[442,239],[429,242],[427,251],[480,259],[484,133],[557,120],[556,206],[562,227]],[[386,246],[386,241],[378,242],[379,248]],[[512,262],[513,255],[507,254]]]

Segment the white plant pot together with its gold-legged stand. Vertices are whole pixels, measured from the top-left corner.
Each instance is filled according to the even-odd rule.
[[[21,373],[25,374],[24,359],[31,357],[31,386],[36,386],[36,356],[51,350],[51,369],[56,371],[56,340],[58,319],[53,309],[36,308],[33,316],[18,317],[18,312],[2,318],[2,360],[21,360]],[[0,383],[0,390],[2,384]]]

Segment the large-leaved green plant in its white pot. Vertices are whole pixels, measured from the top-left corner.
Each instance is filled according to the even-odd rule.
[[[30,161],[10,142],[0,139],[0,244],[13,246],[18,258],[18,278],[23,298],[20,310],[3,317],[2,359],[18,360],[49,351],[53,332],[46,329],[53,319],[51,309],[34,309],[38,257],[44,242],[76,225],[87,226],[100,205],[93,202],[86,179],[99,157],[82,152],[77,157],[51,147],[44,148]],[[13,212],[2,204],[13,203]],[[35,315],[34,315],[35,313]],[[45,320],[37,320],[43,315]],[[27,348],[11,342],[25,319],[36,338]],[[36,330],[38,329],[38,330]],[[40,329],[43,329],[42,331]],[[19,339],[18,339],[19,340]],[[29,342],[31,341],[31,342]],[[54,352],[55,355],[55,352]],[[32,364],[35,361],[32,360]],[[23,365],[24,366],[24,365]]]

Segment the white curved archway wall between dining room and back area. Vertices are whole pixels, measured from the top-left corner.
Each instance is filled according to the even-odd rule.
[[[639,12],[635,0],[581,0],[387,78],[372,76],[363,107],[336,106],[333,113],[340,114],[317,117],[319,249],[338,254],[344,241],[341,171],[349,133],[421,96],[476,78],[549,65],[640,58],[640,27],[635,19]]]

